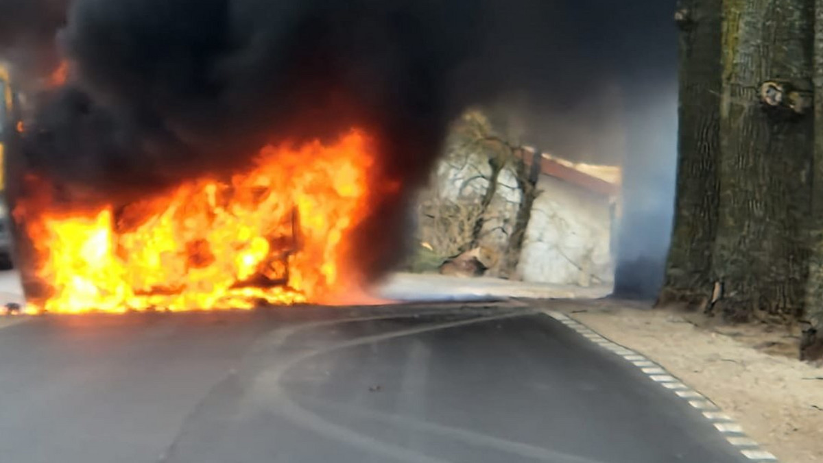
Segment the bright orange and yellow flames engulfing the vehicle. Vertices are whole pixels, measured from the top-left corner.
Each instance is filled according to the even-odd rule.
[[[361,281],[356,226],[392,185],[371,183],[374,144],[267,146],[230,180],[200,178],[116,211],[21,201],[18,220],[51,291],[37,310],[253,308],[323,302]]]

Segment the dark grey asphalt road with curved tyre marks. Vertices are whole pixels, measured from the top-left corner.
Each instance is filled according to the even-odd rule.
[[[505,304],[35,317],[0,461],[740,462],[685,401]]]

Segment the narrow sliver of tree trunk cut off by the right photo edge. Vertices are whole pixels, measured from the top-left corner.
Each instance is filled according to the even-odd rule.
[[[815,0],[814,154],[811,161],[809,275],[801,359],[823,357],[823,0]]]

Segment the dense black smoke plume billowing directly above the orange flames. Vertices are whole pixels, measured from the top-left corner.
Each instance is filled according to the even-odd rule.
[[[269,141],[366,127],[382,174],[404,186],[360,230],[370,275],[397,257],[408,193],[427,178],[449,121],[491,89],[477,69],[484,28],[500,13],[499,2],[468,0],[47,2],[65,7],[61,18],[0,2],[44,24],[17,36],[36,38],[36,49],[51,39],[70,63],[67,83],[35,100],[18,173],[49,178],[67,202],[126,203],[237,168]],[[524,18],[541,3],[506,11]],[[9,196],[21,194],[33,192]]]

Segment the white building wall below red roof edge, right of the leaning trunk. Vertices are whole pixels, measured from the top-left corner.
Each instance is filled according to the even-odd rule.
[[[613,280],[609,199],[542,175],[518,273],[523,280],[593,285]]]

